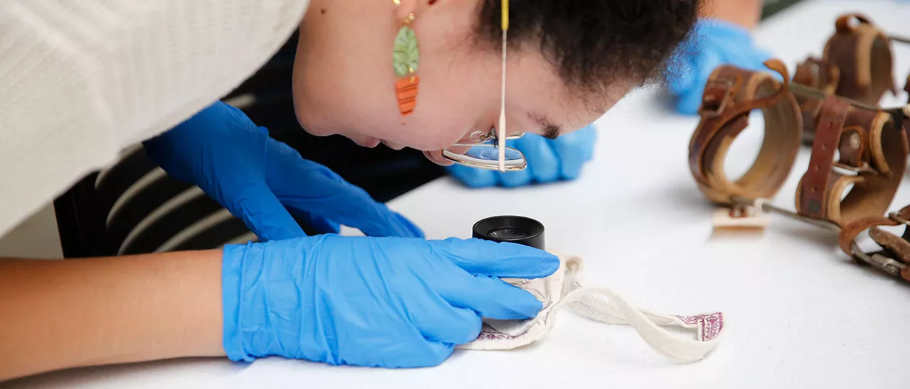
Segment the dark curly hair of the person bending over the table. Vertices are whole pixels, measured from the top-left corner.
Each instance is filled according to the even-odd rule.
[[[540,45],[572,91],[606,92],[617,79],[662,79],[700,0],[510,0],[510,47]],[[501,42],[501,0],[483,0],[477,36]],[[498,47],[498,46],[497,46]]]

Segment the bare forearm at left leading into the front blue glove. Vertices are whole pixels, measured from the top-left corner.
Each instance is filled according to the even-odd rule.
[[[221,251],[0,260],[0,381],[223,355]]]

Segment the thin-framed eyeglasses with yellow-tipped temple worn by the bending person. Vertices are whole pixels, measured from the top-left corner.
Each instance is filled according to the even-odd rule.
[[[475,131],[470,143],[451,145],[442,150],[442,156],[460,165],[481,169],[522,170],[528,161],[520,151],[506,147],[506,140],[518,139],[524,133],[506,135],[506,35],[509,31],[509,0],[502,0],[502,85],[500,97],[500,125],[489,133]]]

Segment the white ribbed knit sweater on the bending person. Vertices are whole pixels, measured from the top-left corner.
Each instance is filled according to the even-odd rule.
[[[278,51],[309,0],[0,0],[0,235]]]

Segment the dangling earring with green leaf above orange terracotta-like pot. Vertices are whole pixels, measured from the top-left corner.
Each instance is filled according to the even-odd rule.
[[[396,2],[396,5],[398,4]],[[410,27],[410,22],[413,21],[414,14],[411,13],[401,22],[399,33],[395,35],[395,51],[392,52],[395,75],[401,77],[395,83],[395,95],[398,97],[402,116],[414,112],[414,106],[417,105],[417,85],[420,84],[420,77],[416,75],[417,67],[420,65],[420,50],[417,48],[417,35]]]

